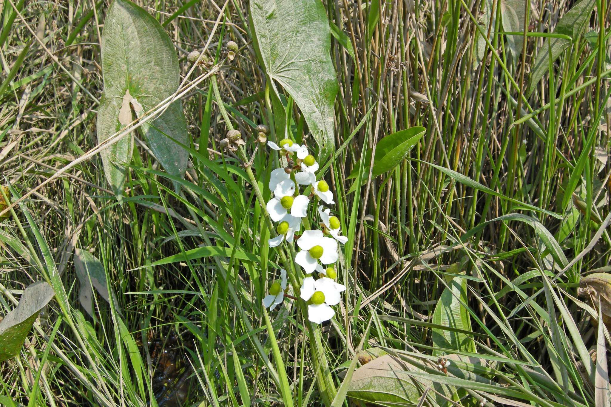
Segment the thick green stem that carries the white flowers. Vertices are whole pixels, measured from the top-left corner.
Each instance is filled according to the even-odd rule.
[[[244,164],[248,163],[246,152],[244,151],[244,148],[242,146],[240,146],[240,149],[238,149],[238,156],[244,162]],[[252,189],[255,191],[255,195],[257,195],[257,200],[261,205],[261,209],[265,217],[268,229],[269,231],[273,232],[275,230],[273,223],[271,222],[271,218],[269,218],[269,214],[266,209],[266,203],[263,199],[263,194],[259,189],[257,178],[255,178],[255,175],[252,172],[252,168],[250,165],[246,165],[246,175],[251,181]],[[294,249],[291,248],[291,251],[294,251]],[[291,284],[293,285],[293,292],[295,293],[296,297],[299,297],[300,284],[296,276],[295,265],[292,261],[288,261],[287,255],[285,254],[284,250],[279,248],[278,253],[280,254],[280,260],[282,261],[282,264],[284,264],[287,269],[288,278],[290,279]],[[307,320],[307,304],[305,304],[305,301],[297,301],[297,303],[299,304],[299,309],[301,309],[302,315],[304,315],[305,319]],[[316,373],[316,383],[318,384],[318,389],[320,390],[321,396],[323,397],[324,404],[326,406],[331,406],[331,402],[335,397],[336,390],[335,384],[333,383],[333,378],[331,377],[331,370],[329,370],[327,358],[324,355],[324,347],[323,341],[321,339],[320,328],[318,328],[318,326],[314,326],[309,321],[305,322],[305,325],[307,326],[310,334],[310,351],[312,352],[315,366],[318,367],[318,372]]]

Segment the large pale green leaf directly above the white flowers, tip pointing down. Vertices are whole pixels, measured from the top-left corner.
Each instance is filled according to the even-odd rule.
[[[277,81],[293,97],[318,143],[319,160],[324,161],[335,145],[338,90],[324,5],[312,0],[250,3],[252,34],[266,74],[272,79],[270,85],[276,93],[273,81]]]

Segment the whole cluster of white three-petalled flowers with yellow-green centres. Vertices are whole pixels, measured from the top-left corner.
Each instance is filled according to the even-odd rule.
[[[287,157],[289,163],[286,168],[273,170],[269,179],[269,190],[274,196],[267,203],[267,211],[271,219],[277,222],[278,232],[278,236],[269,239],[269,247],[276,247],[284,240],[293,242],[295,234],[299,234],[301,220],[307,217],[310,201],[320,200],[327,205],[334,204],[335,201],[329,184],[324,179],[316,179],[319,165],[307,146],[299,145],[290,139],[280,141],[279,145],[268,141],[268,146]],[[302,195],[299,185],[306,185],[305,188],[307,185],[311,186],[310,194]],[[314,323],[332,319],[335,311],[331,306],[340,302],[340,293],[346,290],[345,286],[335,281],[337,273],[333,264],[338,259],[337,242],[344,244],[348,241],[347,237],[341,236],[340,220],[331,215],[331,209],[321,204],[318,206],[318,215],[321,229],[310,229],[301,233],[297,239],[301,250],[294,259],[305,274],[316,272],[318,276],[317,279],[311,276],[304,278],[300,290],[302,300],[309,304],[308,319]],[[282,282],[271,284],[269,295],[263,299],[263,305],[270,310],[282,303],[287,292],[287,272],[282,269],[280,275]]]

